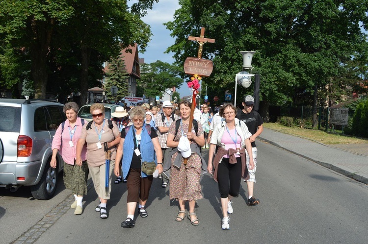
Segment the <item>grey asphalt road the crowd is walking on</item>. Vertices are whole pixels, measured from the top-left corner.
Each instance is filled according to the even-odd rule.
[[[107,220],[101,220],[99,213],[94,211],[98,200],[92,188],[85,197],[82,215],[75,216],[74,210],[68,209],[35,243],[367,243],[367,185],[275,146],[262,142],[257,145],[255,195],[261,203],[257,206],[245,204],[246,184],[241,182],[240,195],[233,200],[234,213],[230,216],[228,231],[221,230],[217,184],[210,175],[205,175],[202,180],[204,198],[196,205],[199,226],[192,226],[187,219],[174,220],[178,204],[169,200],[169,189],[161,188],[156,179],[147,204],[148,217],[142,219],[136,213],[134,228],[120,227],[127,211],[126,184],[121,183],[113,185]],[[61,195],[65,193],[68,191],[62,191],[52,201],[62,200]],[[41,219],[43,212],[54,205],[46,207],[42,204],[49,201],[3,196],[1,207],[4,199],[9,202],[8,198],[25,202],[27,206],[23,211],[19,210],[22,204],[7,205],[1,215],[2,233],[9,230],[18,236],[26,226],[30,228],[34,224],[36,217],[33,215],[40,215],[38,219]],[[47,209],[38,210],[43,207]],[[9,216],[29,211],[34,211],[29,222],[18,217],[17,221],[12,221],[13,217]],[[3,220],[7,223],[3,224]],[[24,227],[15,231],[14,225]],[[9,243],[6,241],[9,239],[3,240],[3,235],[0,239],[0,243]]]

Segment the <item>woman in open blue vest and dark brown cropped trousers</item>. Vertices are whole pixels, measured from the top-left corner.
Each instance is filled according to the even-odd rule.
[[[158,143],[156,130],[144,122],[145,115],[146,110],[141,106],[131,109],[130,116],[133,124],[121,131],[120,144],[116,153],[114,173],[116,176],[120,176],[119,162],[124,154],[123,179],[127,179],[128,188],[128,216],[121,223],[123,228],[134,227],[134,212],[137,202],[139,202],[140,217],[146,218],[148,216],[145,203],[151,189],[153,176],[141,171],[142,162],[154,161],[157,165],[156,175],[162,172],[161,146]]]

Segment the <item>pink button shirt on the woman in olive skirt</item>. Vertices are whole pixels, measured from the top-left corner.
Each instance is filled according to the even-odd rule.
[[[84,123],[87,123],[87,121],[85,121]],[[62,135],[61,135],[61,127],[62,126],[60,124],[55,132],[55,136],[53,137],[52,149],[57,148],[64,162],[70,165],[74,165],[74,160],[76,159],[76,155],[77,155],[77,150],[76,150],[77,142],[78,142],[78,139],[80,137],[80,134],[82,132],[82,127],[83,127],[81,119],[79,117],[77,118],[77,122],[74,128],[70,126],[69,120],[66,120],[64,124],[64,131]],[[72,132],[73,129],[75,129],[74,135],[72,137],[72,140],[70,140],[71,134],[69,132]],[[61,140],[63,141],[62,144],[61,144]],[[69,141],[73,142],[73,146],[70,146]],[[82,161],[86,160],[86,152],[87,152],[87,146],[84,145],[82,149],[82,153],[80,155]]]

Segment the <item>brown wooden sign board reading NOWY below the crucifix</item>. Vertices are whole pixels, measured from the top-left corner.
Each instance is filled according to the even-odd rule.
[[[213,70],[213,63],[203,58],[188,57],[184,62],[184,73],[198,74],[202,77],[209,77]]]

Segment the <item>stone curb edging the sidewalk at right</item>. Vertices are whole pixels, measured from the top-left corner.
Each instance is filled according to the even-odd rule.
[[[288,149],[288,148],[285,148],[285,147],[283,147],[283,146],[280,146],[280,145],[278,145],[277,143],[272,142],[272,141],[270,141],[270,140],[267,140],[267,139],[265,139],[265,138],[263,138],[263,137],[261,137],[261,136],[258,136],[258,139],[259,139],[259,140],[261,140],[261,141],[263,141],[263,142],[269,143],[269,144],[271,144],[271,145],[273,145],[273,146],[277,146],[277,147],[279,147],[279,148],[281,148],[281,149],[284,149],[284,150],[286,150],[286,151],[288,151],[288,152],[291,152],[291,153],[293,153],[293,154],[295,154],[295,155],[298,155],[298,156],[301,156],[301,157],[306,158],[306,159],[308,159],[308,160],[311,160],[311,161],[313,161],[313,162],[315,162],[315,163],[317,163],[317,164],[319,164],[319,165],[321,165],[321,166],[323,166],[323,167],[325,167],[325,168],[327,168],[327,169],[330,169],[330,170],[332,170],[332,171],[335,171],[335,172],[341,173],[342,175],[345,175],[345,176],[347,176],[347,177],[349,177],[349,178],[351,178],[351,179],[354,179],[354,180],[360,181],[360,182],[362,182],[362,183],[364,183],[364,184],[368,184],[368,178],[367,178],[367,177],[365,177],[365,176],[360,175],[359,173],[356,173],[356,172],[350,172],[350,171],[344,170],[344,169],[342,169],[342,168],[340,168],[340,167],[338,167],[338,166],[332,165],[332,164],[330,164],[330,163],[326,163],[326,162],[318,161],[318,160],[315,160],[315,159],[313,159],[313,158],[307,157],[307,156],[305,156],[305,155],[303,155],[303,154],[300,154],[300,153],[298,153],[298,152],[295,152],[295,151],[293,151],[293,150],[290,150],[290,149]],[[325,146],[326,146],[326,145],[325,145]],[[349,152],[349,151],[348,151],[348,152]],[[354,153],[354,152],[351,152],[351,153]],[[355,153],[355,154],[358,154],[358,153]],[[362,155],[362,154],[359,154],[359,155]]]

